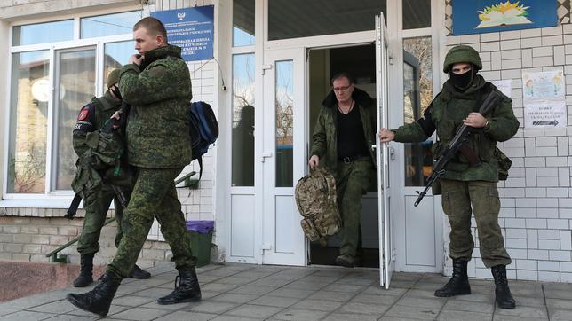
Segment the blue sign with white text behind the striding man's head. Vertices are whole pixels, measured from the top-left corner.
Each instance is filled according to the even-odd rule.
[[[213,58],[213,5],[152,12],[151,16],[163,22],[169,44],[181,47],[185,61]]]

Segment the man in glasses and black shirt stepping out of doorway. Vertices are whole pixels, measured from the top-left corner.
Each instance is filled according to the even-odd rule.
[[[324,166],[336,178],[342,235],[336,264],[354,267],[361,250],[361,195],[373,176],[376,110],[373,100],[355,88],[353,77],[340,73],[324,99],[314,127],[310,168]]]

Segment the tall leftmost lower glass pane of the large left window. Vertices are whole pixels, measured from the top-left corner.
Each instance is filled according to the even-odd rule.
[[[45,190],[49,51],[12,54],[7,192]]]

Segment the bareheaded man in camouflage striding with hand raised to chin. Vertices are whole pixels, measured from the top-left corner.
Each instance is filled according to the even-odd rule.
[[[68,294],[80,309],[106,316],[121,280],[129,275],[154,217],[161,224],[179,270],[179,285],[159,304],[200,301],[185,217],[174,179],[191,161],[189,101],[191,79],[181,49],[167,43],[161,21],[152,17],[133,27],[135,49],[121,68],[119,89],[131,105],[127,121],[129,164],[135,168],[133,191],[123,219],[123,238],[98,286],[87,294]]]

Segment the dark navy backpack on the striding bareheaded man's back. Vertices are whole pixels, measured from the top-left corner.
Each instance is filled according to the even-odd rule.
[[[191,160],[198,160],[201,168],[199,179],[203,176],[203,154],[209,151],[209,146],[218,138],[218,121],[211,105],[204,101],[191,103],[190,134],[191,148],[193,150]]]

